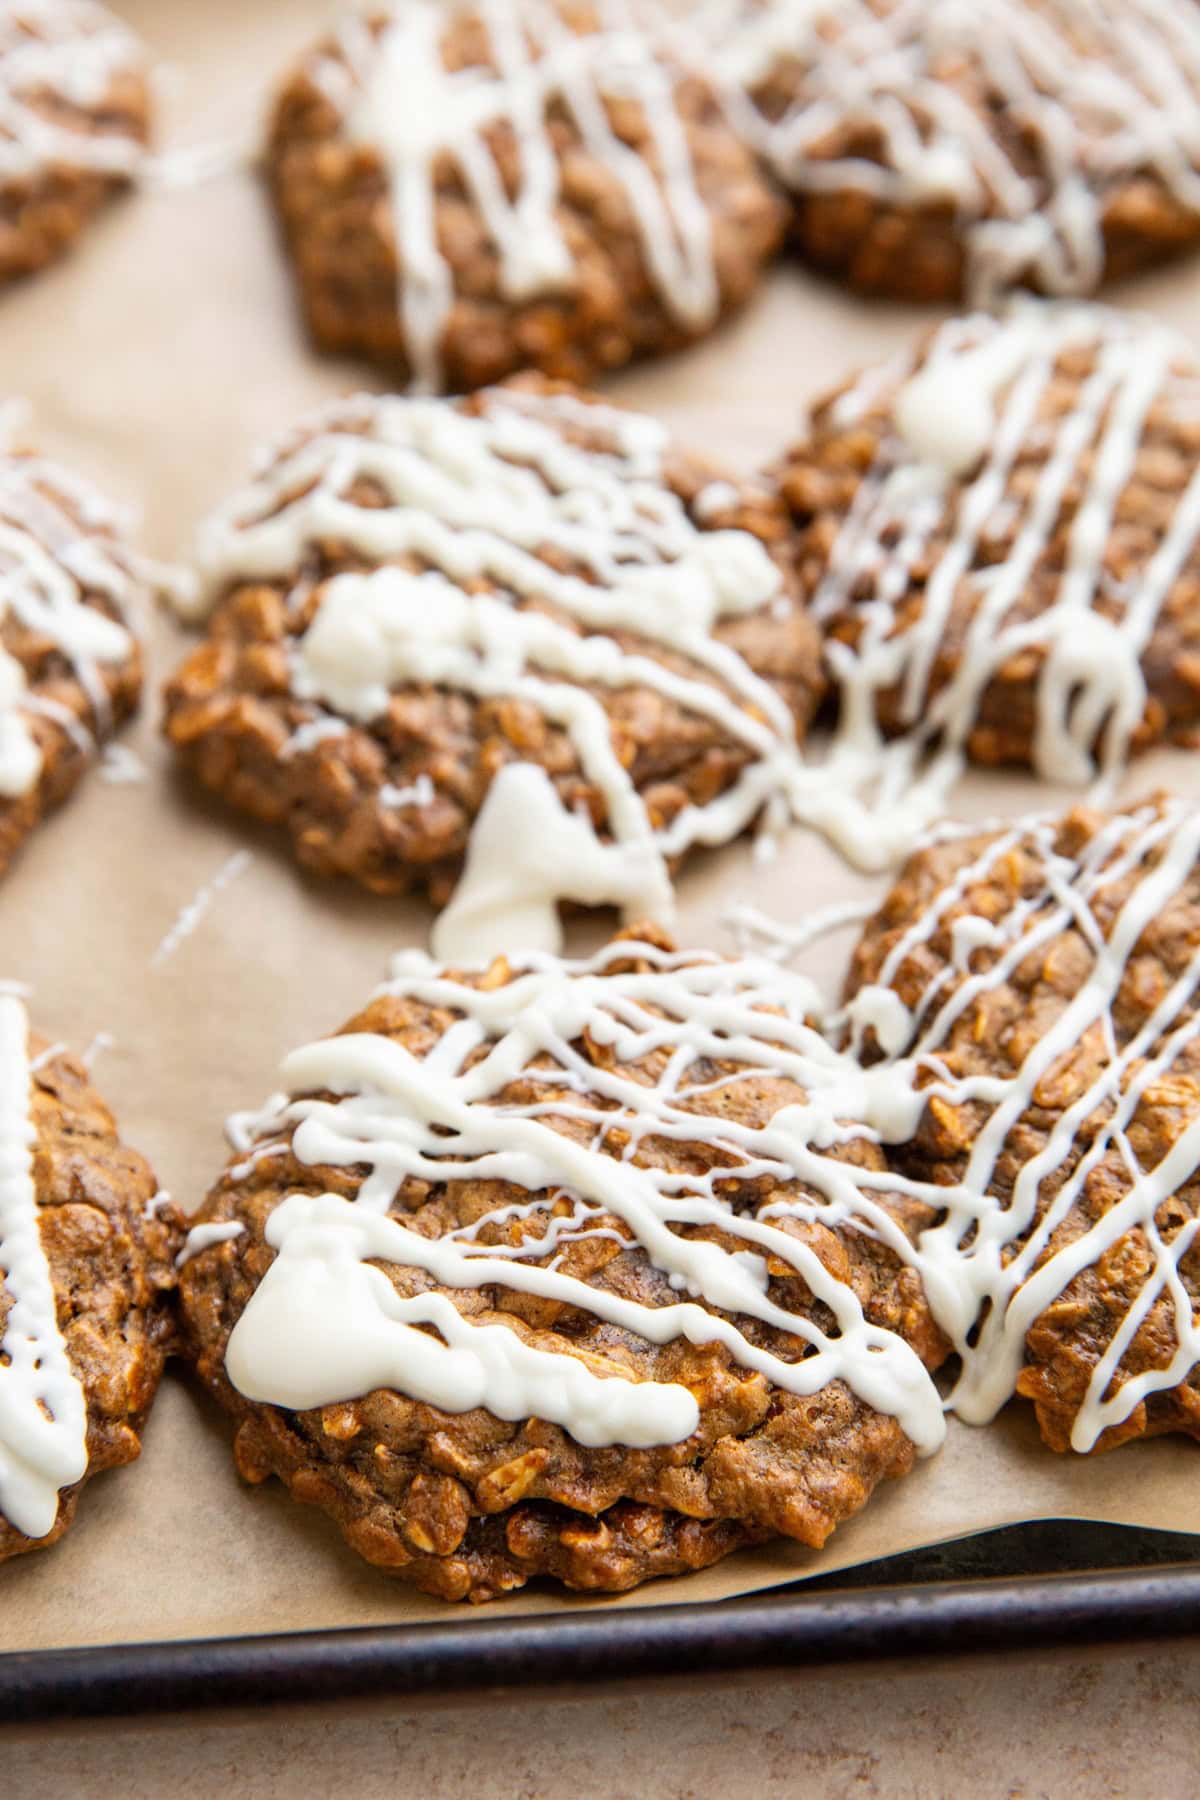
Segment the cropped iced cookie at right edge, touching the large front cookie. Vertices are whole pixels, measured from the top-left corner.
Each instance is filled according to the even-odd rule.
[[[946,830],[851,970],[864,1049],[880,1026],[927,1096],[887,1156],[943,1197],[912,1265],[963,1359],[948,1404],[1016,1390],[1058,1451],[1200,1438],[1198,855],[1162,796]]]

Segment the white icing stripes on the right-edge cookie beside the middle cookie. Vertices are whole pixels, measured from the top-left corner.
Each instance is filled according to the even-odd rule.
[[[1013,481],[1016,457],[1047,428],[1038,425],[1038,407],[1056,358],[1079,346],[1094,351],[1094,371],[1056,423],[1051,454],[1027,491]],[[829,644],[842,720],[828,774],[835,787],[858,794],[894,851],[910,848],[914,830],[943,810],[984,691],[1027,650],[1043,653],[1033,742],[1038,772],[1094,781],[1097,797],[1112,790],[1146,706],[1142,652],[1200,536],[1198,477],[1153,554],[1130,571],[1124,598],[1105,576],[1108,535],[1151,409],[1193,416],[1196,382],[1178,373],[1180,356],[1191,364],[1173,333],[1133,315],[1024,301],[1000,320],[950,322],[916,373],[912,364],[892,369],[892,428],[842,524],[813,612],[819,619],[858,616],[855,648]],[[835,403],[835,425],[851,427],[880,398],[873,371]],[[1085,466],[1085,497],[1067,511]],[[952,481],[959,486],[950,488]],[[1004,560],[991,562],[981,544],[1006,506],[1015,509],[1016,531]],[[901,628],[910,571],[930,556],[930,536],[946,518],[954,529],[925,572],[919,616]],[[1047,567],[1063,520],[1065,567],[1052,603],[1022,619],[1029,578]],[[959,664],[932,693],[937,650],[964,589],[975,607]],[[909,729],[883,745],[874,715],[892,688],[901,691]]]

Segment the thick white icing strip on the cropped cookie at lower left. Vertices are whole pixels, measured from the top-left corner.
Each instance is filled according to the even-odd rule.
[[[61,1489],[88,1467],[88,1418],[41,1247],[34,1145],[29,1021],[20,999],[0,994],[0,1282],[11,1300],[0,1339],[0,1512],[27,1537],[45,1537]]]

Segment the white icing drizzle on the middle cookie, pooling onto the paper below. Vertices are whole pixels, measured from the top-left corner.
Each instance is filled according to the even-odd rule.
[[[336,718],[381,718],[392,689],[410,682],[515,697],[567,733],[603,797],[612,842],[567,814],[538,770],[502,770],[439,925],[439,954],[459,959],[554,949],[560,898],[612,902],[633,920],[666,923],[667,860],[777,810],[797,761],[790,707],[714,637],[720,621],[783,592],[779,571],[748,533],[696,527],[664,484],[664,428],[572,396],[500,389],[480,405],[471,414],[437,400],[349,401],[270,463],[200,544],[207,599],[237,580],[293,580],[318,540],[369,562],[425,565],[324,585],[291,666],[291,691],[320,713],[286,754],[336,733]],[[588,448],[563,427],[587,430]],[[378,484],[389,504],[349,500],[356,481]],[[570,567],[554,567],[545,551]],[[480,580],[500,592],[464,592]],[[653,650],[685,657],[694,673],[667,668]],[[596,693],[635,686],[714,722],[747,758],[725,792],[662,830]]]

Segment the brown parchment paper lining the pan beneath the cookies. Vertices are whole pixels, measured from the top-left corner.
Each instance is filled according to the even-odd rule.
[[[117,9],[164,61],[167,148],[248,144],[277,68],[315,31],[326,0],[124,0]],[[1121,299],[1196,329],[1200,261]],[[612,382],[709,452],[752,468],[795,430],[804,403],[858,362],[905,342],[927,313],[865,306],[781,266],[761,297],[700,349]],[[142,191],[79,252],[0,295],[0,394],[32,401],[34,436],[140,509],[142,542],[178,556],[198,517],[239,481],[250,452],[306,407],[369,373],[308,349],[254,173]],[[83,1049],[110,1033],[97,1080],[162,1184],[194,1206],[225,1156],[221,1121],[275,1087],[284,1051],[333,1030],[423,943],[428,913],[315,886],[279,841],[178,785],[157,738],[157,688],[185,637],[148,621],[149,691],[126,736],[140,785],[94,774],[43,826],[0,889],[0,974],[31,983],[38,1030]],[[1130,794],[1200,788],[1200,761],[1144,760]],[[1016,814],[1063,799],[1025,778],[975,774],[961,814]],[[230,857],[248,851],[237,862]],[[180,913],[218,878],[189,936],[164,954]],[[223,884],[221,884],[223,882]],[[721,916],[754,900],[788,918],[882,882],[793,833],[770,869],[734,846],[684,873],[685,943],[725,945]],[[579,927],[579,949],[599,923]],[[847,940],[846,940],[847,941]],[[844,943],[810,958],[831,986]],[[1027,1408],[986,1431],[952,1422],[945,1451],[813,1555],[768,1546],[621,1600],[516,1595],[506,1613],[694,1602],[747,1593],[1020,1519],[1078,1517],[1200,1534],[1200,1453],[1180,1442],[1063,1458],[1038,1444]],[[324,1517],[284,1492],[243,1489],[225,1420],[182,1373],[167,1377],[139,1463],[88,1489],[49,1553],[0,1568],[0,1649],[446,1618],[347,1552]]]

